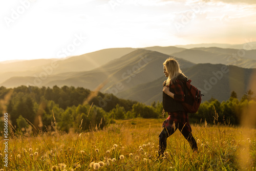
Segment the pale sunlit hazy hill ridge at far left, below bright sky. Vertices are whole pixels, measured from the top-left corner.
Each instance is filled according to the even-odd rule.
[[[0,82],[17,76],[39,76],[40,73],[45,72],[44,68],[52,67],[52,62],[55,62],[54,66],[56,66],[56,68],[53,68],[51,74],[90,71],[134,50],[136,49],[111,48],[63,59],[35,59],[1,62]]]

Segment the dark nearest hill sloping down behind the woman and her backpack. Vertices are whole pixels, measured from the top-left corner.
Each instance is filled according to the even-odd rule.
[[[221,72],[222,67],[227,67]],[[256,87],[249,88],[249,81],[256,69],[244,69],[236,66],[212,65],[201,63],[183,70],[185,75],[192,80],[191,84],[198,87],[203,96],[202,100],[209,100],[211,97],[219,101],[227,100],[232,91],[241,97],[252,89],[256,92]],[[215,75],[215,74],[217,75]],[[162,101],[162,82],[166,77],[162,76],[154,81],[139,84],[129,90],[117,94],[120,98],[132,99],[150,104],[153,101]]]

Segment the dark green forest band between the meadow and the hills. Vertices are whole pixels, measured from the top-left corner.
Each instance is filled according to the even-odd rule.
[[[106,124],[114,123],[115,119],[167,117],[163,113],[162,102],[154,101],[146,105],[81,87],[0,88],[2,101],[7,100],[8,94],[10,97],[6,112],[13,131],[25,132],[29,125],[33,125],[34,129],[41,131],[58,129],[78,132],[102,129]],[[214,124],[217,121],[224,125],[239,125],[244,109],[250,106],[256,106],[251,90],[240,100],[236,92],[232,92],[226,101],[220,102],[212,97],[202,102],[197,113],[189,114],[189,119],[190,123],[207,121],[208,124]],[[3,105],[0,112],[0,117],[3,117]],[[1,119],[0,126],[3,125]]]

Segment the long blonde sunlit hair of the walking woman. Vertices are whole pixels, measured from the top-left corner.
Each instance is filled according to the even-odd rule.
[[[167,85],[169,83],[173,84],[180,74],[182,74],[182,76],[186,77],[182,73],[178,61],[173,56],[171,56],[168,59],[166,59],[163,62],[163,65],[165,66],[165,70],[166,70],[166,72],[169,75],[168,79],[166,81]]]

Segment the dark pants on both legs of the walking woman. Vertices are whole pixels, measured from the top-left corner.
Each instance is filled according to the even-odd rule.
[[[185,129],[182,130],[182,126],[176,125],[176,127],[172,127],[172,129],[165,127],[163,131],[159,135],[159,155],[162,155],[166,149],[166,139],[171,136],[177,129],[180,130],[181,134],[186,138],[189,142],[190,147],[193,151],[197,151],[197,142],[191,132],[186,131]]]

